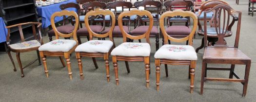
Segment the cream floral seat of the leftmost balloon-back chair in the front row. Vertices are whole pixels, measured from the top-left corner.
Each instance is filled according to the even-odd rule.
[[[46,44],[43,44],[39,47],[39,51],[70,51],[77,42],[75,40],[69,39],[57,39]]]

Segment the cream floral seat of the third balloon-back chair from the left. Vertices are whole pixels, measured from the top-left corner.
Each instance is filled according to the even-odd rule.
[[[125,42],[116,47],[111,55],[117,56],[149,56],[150,45],[148,43]]]

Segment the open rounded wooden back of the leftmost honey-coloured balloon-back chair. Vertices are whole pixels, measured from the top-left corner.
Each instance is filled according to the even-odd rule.
[[[55,17],[61,17],[61,16],[72,16],[72,17],[75,17],[75,20],[76,20],[76,23],[75,23],[75,29],[73,32],[71,32],[70,34],[62,34],[60,33],[56,26],[55,26]],[[56,36],[56,39],[59,39],[59,36],[61,37],[71,37],[73,36],[73,39],[76,40],[77,44],[78,44],[78,39],[77,39],[77,30],[78,30],[78,27],[79,27],[79,18],[78,18],[78,14],[74,11],[68,11],[68,10],[62,10],[60,12],[55,12],[52,16],[51,16],[51,24],[52,24],[52,28],[54,30],[54,33],[55,33],[55,36]]]

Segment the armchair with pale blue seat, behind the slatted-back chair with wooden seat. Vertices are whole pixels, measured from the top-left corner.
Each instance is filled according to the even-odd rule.
[[[227,2],[225,2],[223,0],[208,0],[208,1],[204,2],[201,5],[201,7],[199,8],[198,15],[197,15],[197,17],[198,17],[198,31],[197,31],[197,34],[198,35],[204,36],[204,31],[203,31],[201,23],[200,23],[200,21],[202,19],[201,15],[204,13],[204,11],[210,10],[213,7],[217,6],[218,4],[227,4],[227,5],[229,5]],[[233,15],[231,14],[231,16],[233,16]],[[211,17],[211,18],[209,18],[209,17]],[[215,31],[215,23],[218,23],[218,22],[214,20],[215,19],[214,17],[215,17],[214,12],[209,12],[206,15],[206,19],[210,23],[210,27],[207,30],[207,32],[208,32],[208,34],[207,34],[208,35],[208,46],[214,45],[215,42],[217,41],[217,32]],[[238,18],[236,16],[233,16],[232,23],[230,23],[230,26],[228,28],[229,32],[225,34],[225,37],[229,37],[229,36],[232,35],[231,28],[234,25],[235,21],[237,21],[237,20],[238,20]],[[204,47],[204,38],[202,38],[201,46],[196,49],[196,52],[198,52],[203,47]]]

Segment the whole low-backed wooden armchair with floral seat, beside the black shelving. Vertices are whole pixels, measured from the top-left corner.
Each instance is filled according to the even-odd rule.
[[[22,32],[22,26],[23,25],[32,25],[34,40],[25,41],[26,38],[24,38],[24,35],[23,35],[23,32]],[[40,57],[39,57],[39,51],[38,51],[38,48],[43,44],[42,37],[41,37],[41,25],[42,24],[39,23],[39,22],[27,22],[27,23],[20,23],[20,24],[11,25],[11,26],[6,27],[8,29],[8,34],[6,36],[7,52],[8,52],[8,55],[9,55],[10,59],[11,59],[11,62],[13,64],[13,67],[14,67],[13,70],[14,71],[17,71],[17,70],[16,70],[16,67],[15,67],[12,55],[11,55],[11,51],[16,53],[16,57],[17,57],[17,60],[18,60],[19,66],[20,66],[21,77],[24,77],[23,69],[30,66],[31,64],[33,64],[37,60],[39,61],[39,65],[41,65]],[[19,28],[21,42],[16,43],[16,44],[11,44],[11,40],[10,40],[11,30],[10,29],[14,28],[14,27]],[[37,35],[36,27],[38,29],[39,35]],[[22,67],[22,63],[20,61],[20,53],[21,52],[28,52],[28,51],[37,51],[38,59],[30,62],[25,67]]]

